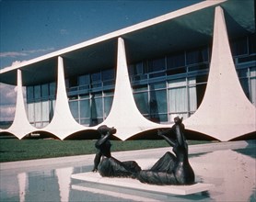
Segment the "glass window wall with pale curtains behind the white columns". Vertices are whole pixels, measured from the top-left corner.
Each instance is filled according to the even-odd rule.
[[[240,84],[256,106],[255,35],[230,41]],[[200,106],[207,83],[211,47],[173,52],[156,59],[129,64],[134,100],[141,114],[157,123],[189,118]],[[115,83],[114,68],[66,80],[69,106],[85,126],[102,122],[110,113]],[[52,119],[56,83],[27,87],[29,122],[42,128]]]

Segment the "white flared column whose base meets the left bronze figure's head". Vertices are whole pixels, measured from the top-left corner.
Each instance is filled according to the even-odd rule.
[[[144,118],[136,107],[122,38],[118,39],[116,84],[111,112],[100,125],[104,124],[117,129],[115,135],[121,140],[126,140],[144,130],[163,128],[162,125]]]

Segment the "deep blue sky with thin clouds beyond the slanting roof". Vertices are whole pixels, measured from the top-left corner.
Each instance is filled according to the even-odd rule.
[[[0,0],[0,68],[198,2],[200,0]],[[0,84],[0,121],[13,117],[14,110],[8,107],[13,108],[14,104],[13,88]]]

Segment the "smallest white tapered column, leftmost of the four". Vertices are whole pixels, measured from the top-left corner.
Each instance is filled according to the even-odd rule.
[[[18,139],[22,139],[34,130],[36,129],[29,124],[24,104],[21,71],[17,70],[17,101],[15,117],[12,125],[9,129],[6,129],[6,131],[14,134]]]

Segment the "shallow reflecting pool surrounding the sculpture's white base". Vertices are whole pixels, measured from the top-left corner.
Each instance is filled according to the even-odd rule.
[[[132,152],[130,157],[134,158]],[[29,171],[18,168],[1,170],[0,201],[256,201],[255,145],[238,150],[191,154],[190,163],[196,181],[215,186],[207,192],[189,196],[157,195],[71,179],[71,174],[91,171],[92,160],[90,156],[85,163],[75,166],[67,163],[64,166],[38,166]],[[155,160],[157,157],[152,155],[145,157],[142,167],[153,164]]]

